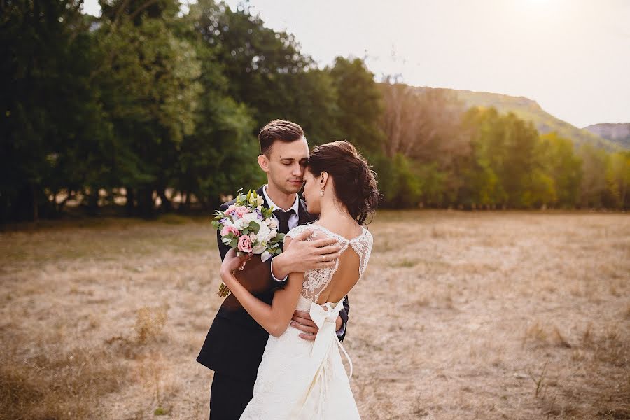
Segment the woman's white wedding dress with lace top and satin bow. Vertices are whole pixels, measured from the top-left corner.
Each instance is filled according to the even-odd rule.
[[[320,239],[321,235],[336,237],[337,244],[342,246],[341,253],[350,246],[359,257],[359,279],[363,276],[372,251],[370,232],[363,228],[358,237],[348,240],[321,225],[310,224],[297,226],[287,235],[295,237],[311,228],[314,234],[307,240]],[[335,267],[304,273],[297,310],[309,311],[319,327],[317,337],[314,342],[302,339],[298,337],[300,330],[290,325],[280,337],[269,336],[253,398],[241,419],[360,419],[339,349],[348,359],[350,377],[352,363],[335,332],[343,299],[323,305],[316,303],[338,267],[339,259]]]

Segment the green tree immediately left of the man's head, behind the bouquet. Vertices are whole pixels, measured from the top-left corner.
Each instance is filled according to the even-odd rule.
[[[183,139],[176,163],[173,187],[186,197],[182,209],[190,207],[193,195],[205,209],[215,209],[222,195],[262,181],[251,112],[229,96],[230,80],[218,62],[214,38],[206,34],[217,10],[213,1],[193,4],[180,27],[202,64],[198,82],[203,89],[194,114],[195,131]]]

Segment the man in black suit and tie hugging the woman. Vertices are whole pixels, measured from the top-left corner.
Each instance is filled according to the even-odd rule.
[[[315,220],[306,210],[306,204],[297,195],[302,188],[302,176],[309,157],[309,146],[300,125],[286,120],[273,120],[260,130],[258,165],[267,173],[267,184],[257,193],[267,208],[274,207],[274,218],[279,232],[286,233],[297,225]],[[221,204],[228,209],[235,200]],[[291,272],[332,267],[339,256],[340,247],[333,245],[335,238],[305,241],[312,230],[302,232],[291,241],[280,255],[262,263],[270,281],[262,281],[262,288],[253,292],[258,299],[271,304],[274,290],[282,288]],[[221,260],[230,251],[217,232]],[[248,267],[245,267],[247,271]],[[253,270],[254,268],[251,268]],[[260,286],[260,281],[258,282]],[[348,297],[337,318],[337,337],[343,340],[350,306]],[[302,333],[302,339],[314,340],[317,326],[308,311],[295,311],[291,325]],[[212,420],[238,419],[253,395],[253,386],[262,360],[269,333],[239,306],[234,295],[228,296],[218,310],[208,335],[197,356],[197,362],[214,370],[210,391]]]

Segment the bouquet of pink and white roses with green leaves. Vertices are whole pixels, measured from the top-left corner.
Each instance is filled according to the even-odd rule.
[[[253,190],[242,194],[242,190],[238,191],[235,204],[225,211],[214,212],[212,225],[220,231],[223,244],[237,248],[237,255],[252,252],[260,254],[260,259],[265,262],[282,252],[280,242],[284,234],[276,230],[278,225],[273,218],[273,209],[262,207],[262,197]],[[222,281],[218,295],[227,297],[229,294],[230,289]]]

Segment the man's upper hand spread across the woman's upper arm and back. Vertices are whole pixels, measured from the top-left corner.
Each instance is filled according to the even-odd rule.
[[[312,229],[304,230],[290,241],[286,249],[274,258],[272,270],[276,279],[284,279],[289,273],[303,273],[308,269],[334,267],[341,247],[337,239],[326,237],[307,241]]]

